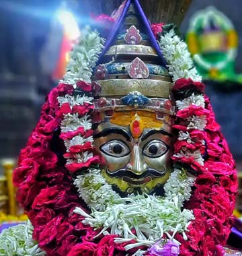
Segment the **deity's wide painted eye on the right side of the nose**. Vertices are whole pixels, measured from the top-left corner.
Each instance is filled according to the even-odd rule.
[[[159,139],[153,139],[145,144],[143,148],[143,154],[149,158],[159,158],[165,154],[168,150],[168,146]]]

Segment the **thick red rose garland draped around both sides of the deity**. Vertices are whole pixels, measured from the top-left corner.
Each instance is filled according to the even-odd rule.
[[[82,84],[84,85],[84,84]],[[177,86],[178,85],[178,86]],[[179,86],[180,85],[180,86]],[[88,84],[85,84],[88,88]],[[174,86],[174,94],[184,94],[189,90],[201,91],[201,83],[180,79]],[[87,90],[84,86],[80,86]],[[192,88],[192,89],[191,89]],[[194,90],[194,88],[196,90]],[[189,89],[189,90],[188,90]],[[88,90],[89,91],[89,90]],[[40,121],[30,135],[26,148],[19,157],[19,166],[13,174],[13,182],[19,189],[17,199],[25,207],[34,226],[33,238],[39,242],[48,255],[126,255],[124,244],[114,243],[115,236],[105,236],[95,239],[95,231],[81,223],[83,217],[73,214],[76,206],[89,211],[87,206],[77,195],[71,174],[61,166],[56,154],[50,150],[52,137],[60,125],[60,118],[65,113],[65,107],[58,107],[58,96],[73,94],[72,86],[59,84],[48,96],[42,107]],[[181,98],[181,97],[180,97]],[[93,110],[91,104],[85,106],[87,110],[77,110],[79,115],[85,115]],[[75,108],[74,108],[75,109]],[[73,111],[75,111],[73,109]],[[69,110],[68,110],[69,111]],[[196,113],[196,114],[195,114]],[[175,129],[187,131],[186,118],[192,115],[205,115],[207,119],[204,131],[190,129],[190,137],[197,139],[197,143],[175,143],[175,152],[181,148],[200,150],[204,154],[204,166],[194,161],[194,158],[175,158],[174,164],[180,164],[198,172],[194,193],[186,205],[194,210],[196,220],[192,221],[188,232],[188,241],[184,241],[180,234],[176,235],[182,245],[180,255],[223,255],[223,247],[229,235],[231,214],[235,205],[237,179],[235,163],[229,152],[219,126],[214,121],[214,114],[208,98],[206,107],[190,106],[186,111],[177,112]],[[91,135],[91,131],[85,131]],[[85,133],[82,127],[79,133]],[[62,133],[61,137],[71,138],[75,133]],[[204,139],[204,146],[200,141]],[[89,146],[85,149],[92,150]],[[93,158],[97,162],[97,158]],[[91,165],[91,161],[86,167]],[[70,168],[75,171],[79,166]],[[134,253],[138,248],[132,252]]]

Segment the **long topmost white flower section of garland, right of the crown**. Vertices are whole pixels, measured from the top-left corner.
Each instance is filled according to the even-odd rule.
[[[188,46],[179,36],[175,35],[174,30],[161,36],[159,46],[168,63],[167,67],[169,74],[173,77],[173,82],[182,77],[198,82],[202,81],[202,77],[198,75],[198,71],[194,67]]]

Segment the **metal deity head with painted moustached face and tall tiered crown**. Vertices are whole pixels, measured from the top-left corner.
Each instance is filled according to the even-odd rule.
[[[120,195],[163,195],[171,173],[172,83],[136,11],[130,5],[94,69],[94,144],[104,178]]]

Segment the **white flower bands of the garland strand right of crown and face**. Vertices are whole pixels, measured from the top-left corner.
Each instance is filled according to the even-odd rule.
[[[167,67],[170,75],[173,76],[173,82],[179,78],[191,78],[196,82],[202,81],[202,77],[198,75],[198,71],[196,70],[196,67],[194,67],[187,44],[175,34],[174,30],[171,30],[164,36],[161,36],[159,46],[165,60],[169,64]],[[178,110],[184,110],[191,105],[201,106],[204,108],[205,100],[203,95],[192,94],[184,100],[177,100],[175,104]],[[203,131],[206,127],[206,117],[192,116],[188,117],[186,121],[189,122],[187,127],[188,131],[186,131],[186,133],[179,131],[178,139],[180,141],[187,141],[188,143],[195,143],[195,141],[192,141],[192,138],[190,137],[189,130],[198,129],[199,131]],[[204,144],[204,141],[201,142]],[[204,165],[204,159],[202,158],[202,154],[199,150],[191,151],[182,149],[179,153],[174,154],[173,156],[177,158],[190,158],[192,156],[198,164],[202,166]]]

